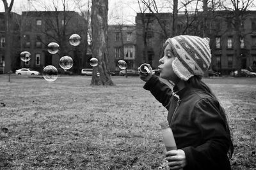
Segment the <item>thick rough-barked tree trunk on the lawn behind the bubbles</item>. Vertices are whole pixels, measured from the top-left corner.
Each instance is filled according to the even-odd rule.
[[[92,1],[92,57],[98,59],[93,67],[91,85],[114,85],[108,67],[108,0]]]

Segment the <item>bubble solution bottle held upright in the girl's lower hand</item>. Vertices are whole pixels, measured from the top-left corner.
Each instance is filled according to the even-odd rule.
[[[161,132],[163,135],[166,151],[168,152],[169,150],[177,150],[175,139],[173,137],[172,129],[170,128],[169,123],[166,121],[159,125],[161,126]]]

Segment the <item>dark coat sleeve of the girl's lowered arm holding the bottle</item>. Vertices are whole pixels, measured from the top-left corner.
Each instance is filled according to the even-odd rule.
[[[227,157],[231,141],[217,101],[201,99],[192,117],[202,136],[202,145],[182,148],[186,154],[185,169],[230,169]]]

